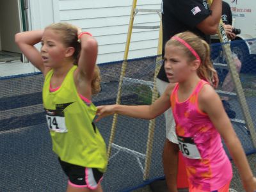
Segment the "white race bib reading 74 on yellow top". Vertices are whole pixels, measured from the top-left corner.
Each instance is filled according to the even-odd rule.
[[[51,115],[45,115],[45,116],[46,116],[48,128],[51,131],[68,132],[68,129],[65,124],[64,116],[51,116]]]

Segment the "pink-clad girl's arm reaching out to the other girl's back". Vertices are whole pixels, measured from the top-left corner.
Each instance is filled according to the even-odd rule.
[[[144,118],[152,119],[161,115],[170,108],[170,93],[172,93],[173,86],[175,84],[169,84],[165,92],[159,99],[154,102],[151,106],[125,106],[125,105],[109,105],[109,106],[99,106],[97,107],[97,115],[99,116],[96,119],[98,122],[104,116],[113,115],[118,113],[120,115],[127,115],[135,118]]]

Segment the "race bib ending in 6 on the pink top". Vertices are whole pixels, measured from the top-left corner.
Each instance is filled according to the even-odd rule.
[[[193,138],[184,138],[178,136],[179,148],[184,157],[189,159],[201,159],[200,152],[196,147]]]

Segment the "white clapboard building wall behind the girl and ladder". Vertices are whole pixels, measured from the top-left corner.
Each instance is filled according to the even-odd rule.
[[[70,22],[83,31],[90,31],[99,43],[97,63],[123,60],[132,0],[33,0],[32,15],[39,15],[42,22],[32,23],[44,27],[52,22]],[[48,5],[48,6],[47,6]],[[161,0],[138,0],[136,8],[161,8]],[[47,11],[45,11],[47,9]],[[52,10],[51,10],[52,9]],[[50,18],[52,17],[52,18]],[[138,13],[134,25],[158,26],[156,13]],[[156,55],[159,29],[133,29],[129,58]]]

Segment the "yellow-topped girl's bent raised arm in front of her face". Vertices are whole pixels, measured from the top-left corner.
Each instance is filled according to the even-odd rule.
[[[17,33],[15,35],[15,42],[26,58],[44,74],[45,68],[40,51],[34,46],[41,41],[43,33],[44,30]]]

